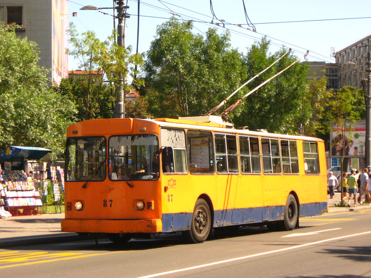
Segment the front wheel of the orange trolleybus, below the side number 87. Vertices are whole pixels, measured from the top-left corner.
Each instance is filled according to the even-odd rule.
[[[198,199],[194,205],[191,229],[183,231],[182,235],[190,243],[202,243],[210,234],[211,214],[209,205],[204,199]]]

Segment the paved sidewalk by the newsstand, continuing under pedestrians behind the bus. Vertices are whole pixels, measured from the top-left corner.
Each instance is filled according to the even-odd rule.
[[[357,194],[358,195],[358,194]],[[329,214],[371,209],[369,205],[354,207],[351,200],[350,207],[336,207],[340,203],[341,194],[335,193],[333,199],[328,195]],[[346,199],[346,202],[348,199]],[[51,242],[64,242],[82,239],[76,233],[62,233],[60,221],[65,214],[42,214],[32,216],[12,216],[0,219],[0,248],[20,245],[33,245]]]

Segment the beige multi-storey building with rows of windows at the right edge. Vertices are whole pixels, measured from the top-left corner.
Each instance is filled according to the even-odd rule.
[[[370,51],[371,35],[355,42],[344,49],[336,52],[336,64],[338,64],[339,87],[353,86],[362,88],[362,79],[366,76],[367,53]],[[357,64],[345,64],[353,62]]]

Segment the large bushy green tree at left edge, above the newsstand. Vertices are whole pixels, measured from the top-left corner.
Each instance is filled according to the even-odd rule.
[[[47,70],[37,65],[36,43],[0,22],[0,148],[39,146],[63,154],[75,107],[49,89]]]

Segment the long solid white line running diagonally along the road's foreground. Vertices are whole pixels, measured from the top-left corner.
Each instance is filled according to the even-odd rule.
[[[268,251],[268,252],[262,252],[262,253],[248,255],[248,256],[239,257],[239,258],[227,259],[227,260],[219,261],[219,262],[211,262],[209,264],[196,265],[194,267],[187,267],[187,268],[165,271],[165,272],[156,273],[156,274],[150,274],[150,275],[141,276],[141,277],[138,277],[138,278],[158,277],[158,276],[161,276],[161,275],[167,275],[167,274],[172,274],[172,273],[177,273],[177,272],[182,272],[182,271],[188,271],[188,270],[193,270],[193,269],[203,268],[203,267],[210,267],[211,265],[225,264],[226,262],[234,262],[234,261],[239,261],[239,260],[242,260],[242,259],[253,258],[253,257],[262,256],[262,255],[267,255],[267,254],[273,254],[273,253],[277,253],[277,252],[288,251],[288,250],[291,250],[291,249],[296,249],[296,248],[300,248],[300,247],[304,247],[304,246],[319,244],[319,243],[322,243],[322,242],[334,241],[334,240],[337,240],[337,239],[350,238],[352,236],[367,235],[367,234],[371,234],[371,231],[370,232],[363,232],[363,233],[359,233],[359,234],[353,234],[353,235],[339,236],[337,238],[323,239],[323,240],[320,240],[320,241],[309,242],[309,243],[302,244],[302,245],[290,246],[290,247],[287,247],[287,248],[277,249],[277,250]]]

